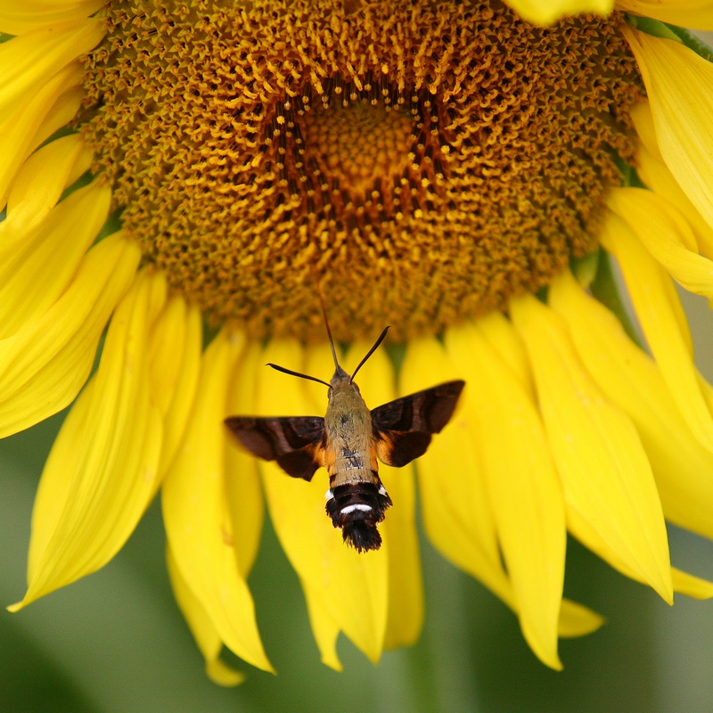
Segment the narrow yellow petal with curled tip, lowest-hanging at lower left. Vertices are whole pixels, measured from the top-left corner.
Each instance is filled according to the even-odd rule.
[[[201,602],[185,583],[184,578],[178,571],[176,560],[171,553],[171,548],[166,548],[166,562],[168,565],[168,576],[171,579],[173,593],[181,613],[184,615],[188,627],[191,629],[195,643],[206,660],[206,673],[214,684],[237,685],[242,684],[245,676],[240,671],[234,670],[223,663],[218,657],[223,648],[223,642],[217,633],[216,627],[205,611]]]

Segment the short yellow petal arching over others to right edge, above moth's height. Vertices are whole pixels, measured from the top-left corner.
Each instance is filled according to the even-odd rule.
[[[698,254],[693,230],[675,206],[642,188],[614,188],[607,205],[677,283],[713,298],[713,262]]]

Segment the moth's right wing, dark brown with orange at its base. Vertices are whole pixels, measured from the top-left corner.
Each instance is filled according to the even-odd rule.
[[[447,381],[374,408],[379,459],[400,468],[423,455],[431,435],[450,421],[463,386],[465,381]]]

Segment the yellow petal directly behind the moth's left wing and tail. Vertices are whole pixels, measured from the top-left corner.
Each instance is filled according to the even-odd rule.
[[[313,350],[313,358],[320,364],[329,358],[324,346]],[[274,340],[267,345],[262,363],[269,361],[311,373],[315,365],[305,366],[303,359],[303,350],[296,342]],[[320,369],[315,373],[323,372]],[[257,413],[324,415],[326,389],[322,387],[323,407],[316,412],[308,386],[307,381],[269,369],[258,371]],[[303,585],[314,595],[309,607],[313,629],[317,633],[328,626],[315,617],[331,619],[365,656],[379,660],[388,609],[388,540],[384,537],[378,552],[362,554],[342,542],[340,531],[332,527],[324,512],[324,492],[329,488],[326,471],[316,471],[306,483],[285,475],[275,463],[260,465],[277,537]],[[328,638],[317,637],[318,645],[324,645],[324,641]],[[333,660],[333,652],[321,652],[323,660]]]

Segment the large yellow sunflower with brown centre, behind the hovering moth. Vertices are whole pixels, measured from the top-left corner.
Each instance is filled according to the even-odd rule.
[[[713,390],[673,282],[713,298],[713,65],[676,27],[713,5],[508,5],[0,7],[0,434],[74,402],[11,609],[110,561],[159,491],[222,684],[224,646],[271,670],[247,584],[265,504],[332,668],[340,633],[374,661],[419,634],[416,488],[433,545],[552,668],[602,623],[562,598],[568,532],[666,602],[713,594],[666,532],[713,537]],[[332,373],[320,290],[348,369],[392,325],[370,406],[466,381],[417,468],[381,472],[379,552],[342,544],[320,472],[223,423],[324,413],[323,386],[264,368]]]

